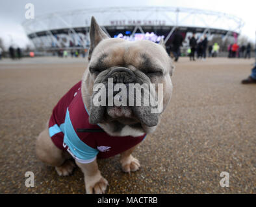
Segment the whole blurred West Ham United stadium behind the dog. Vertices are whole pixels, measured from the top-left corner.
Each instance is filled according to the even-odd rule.
[[[34,47],[40,50],[88,48],[90,18],[96,17],[99,25],[112,38],[131,41],[164,39],[166,47],[172,42],[175,28],[188,43],[188,36],[196,32],[198,38],[208,34],[222,39],[237,38],[244,21],[239,17],[220,12],[174,7],[116,7],[93,8],[58,12],[38,16],[23,23],[23,28]]]

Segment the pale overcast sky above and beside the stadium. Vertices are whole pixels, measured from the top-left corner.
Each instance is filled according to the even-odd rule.
[[[29,39],[21,26],[25,21],[25,5],[34,5],[35,18],[51,12],[68,11],[82,8],[108,6],[174,6],[199,8],[233,14],[245,21],[242,34],[255,41],[256,1],[255,0],[1,0],[0,1],[0,38],[5,47],[12,38],[19,47],[25,47]]]

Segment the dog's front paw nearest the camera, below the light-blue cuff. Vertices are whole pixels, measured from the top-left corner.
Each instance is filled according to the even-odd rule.
[[[108,185],[108,181],[101,175],[85,177],[85,190],[87,194],[103,194]]]

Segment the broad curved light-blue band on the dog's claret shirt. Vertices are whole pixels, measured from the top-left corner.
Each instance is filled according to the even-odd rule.
[[[88,146],[77,136],[77,133],[73,129],[68,109],[64,124],[64,143],[69,147],[71,153],[80,160],[90,160],[99,153],[97,149]]]

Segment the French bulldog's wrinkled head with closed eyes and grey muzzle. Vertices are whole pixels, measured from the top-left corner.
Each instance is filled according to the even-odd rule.
[[[172,94],[173,66],[164,47],[109,38],[92,17],[88,60],[82,94],[90,123],[115,132],[126,125],[153,131]]]

